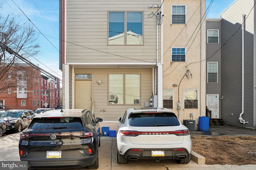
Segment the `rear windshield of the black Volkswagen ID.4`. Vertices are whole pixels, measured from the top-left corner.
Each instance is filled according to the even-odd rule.
[[[62,118],[34,118],[29,129],[64,129],[64,128],[82,128],[82,119],[79,117]]]

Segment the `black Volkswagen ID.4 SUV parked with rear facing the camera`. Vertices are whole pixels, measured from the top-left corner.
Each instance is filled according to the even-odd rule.
[[[102,119],[87,109],[50,110],[34,117],[20,134],[21,161],[28,168],[96,169]]]

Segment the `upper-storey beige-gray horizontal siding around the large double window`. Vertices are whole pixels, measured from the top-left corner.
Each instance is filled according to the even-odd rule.
[[[160,0],[67,0],[67,63],[156,63],[156,17]],[[108,11],[143,11],[143,45],[108,45]],[[160,10],[159,10],[160,11]],[[160,26],[159,26],[160,49]],[[160,56],[160,50],[159,50]]]

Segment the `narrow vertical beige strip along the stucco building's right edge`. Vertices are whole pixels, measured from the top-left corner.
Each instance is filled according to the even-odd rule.
[[[201,0],[201,4],[202,4],[203,0]],[[203,6],[201,5],[201,61],[203,61],[203,29],[202,29],[202,25],[203,25]],[[200,67],[200,108],[201,108],[201,117],[203,116],[203,95],[202,95],[202,91],[203,91],[203,71],[202,71],[202,68],[203,68],[203,62],[200,62],[201,63],[201,67]]]

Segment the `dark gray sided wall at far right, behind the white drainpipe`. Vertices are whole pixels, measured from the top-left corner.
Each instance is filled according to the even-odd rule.
[[[248,3],[249,2],[249,3]],[[253,0],[237,0],[225,10],[221,17],[222,36],[222,77],[221,94],[222,119],[225,123],[236,126],[254,127],[254,35]],[[238,118],[242,112],[242,14],[246,14],[244,31],[244,114],[246,123]],[[233,113],[233,116],[231,115]]]

